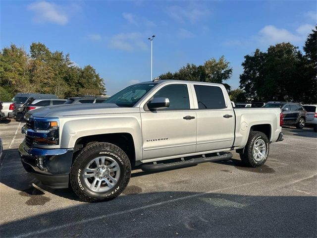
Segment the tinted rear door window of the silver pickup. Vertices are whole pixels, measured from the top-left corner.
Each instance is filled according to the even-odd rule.
[[[199,109],[221,109],[226,104],[221,88],[216,86],[194,85]]]

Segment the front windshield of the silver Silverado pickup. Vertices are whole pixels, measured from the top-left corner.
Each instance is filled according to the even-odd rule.
[[[119,107],[133,107],[140,98],[153,88],[155,83],[134,84],[111,96],[104,103],[114,103]]]

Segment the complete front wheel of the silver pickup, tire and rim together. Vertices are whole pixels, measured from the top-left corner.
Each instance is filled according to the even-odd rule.
[[[118,146],[100,142],[86,146],[71,167],[70,184],[82,201],[117,197],[131,176],[128,156]]]

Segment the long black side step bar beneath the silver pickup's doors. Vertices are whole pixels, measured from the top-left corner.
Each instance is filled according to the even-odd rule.
[[[141,165],[141,169],[143,171],[169,170],[169,169],[180,168],[180,167],[185,167],[190,165],[197,165],[197,164],[205,163],[205,162],[228,160],[231,158],[232,158],[232,154],[230,152],[229,153],[222,152],[222,154],[217,153],[216,156],[211,156],[211,157],[206,157],[205,155],[203,155],[202,157],[192,158],[190,160],[184,160],[184,158],[182,158],[181,161],[172,162],[172,163],[157,164],[156,162],[154,162],[154,164],[143,164]]]

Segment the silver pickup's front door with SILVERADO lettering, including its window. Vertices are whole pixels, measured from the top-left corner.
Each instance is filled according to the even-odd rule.
[[[153,98],[168,98],[169,107],[141,108],[143,159],[171,157],[196,151],[196,113],[190,110],[188,84],[168,84]]]

